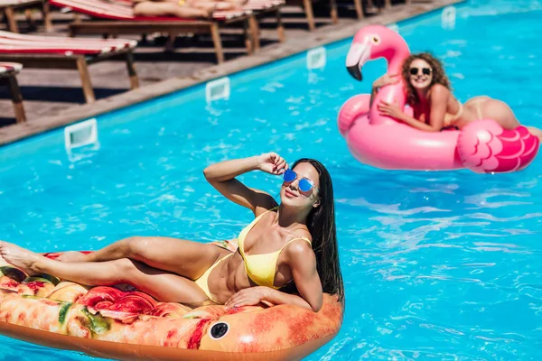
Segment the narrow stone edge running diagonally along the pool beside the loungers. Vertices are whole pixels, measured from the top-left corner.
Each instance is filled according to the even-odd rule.
[[[383,11],[382,14],[360,20],[356,23],[339,23],[337,25],[323,26],[316,31],[307,32],[306,36],[287,37],[283,43],[269,45],[256,54],[243,56],[220,65],[196,71],[191,77],[167,79],[153,85],[100,99],[92,104],[73,106],[66,109],[62,116],[45,116],[30,122],[5,126],[0,128],[0,147],[36,134],[60,128],[64,125],[77,123],[83,119],[143,103],[155,97],[162,97],[185,88],[191,88],[212,79],[255,68],[275,60],[281,60],[315,47],[348,39],[365,25],[398,23],[448,5],[461,4],[466,1],[433,0],[431,2],[415,3],[412,5],[394,5],[390,10]]]

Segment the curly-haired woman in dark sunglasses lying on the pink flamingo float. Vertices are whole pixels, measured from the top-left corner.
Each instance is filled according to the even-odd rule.
[[[403,63],[401,74],[406,85],[407,104],[414,110],[414,117],[407,116],[396,105],[382,102],[378,110],[407,125],[425,132],[440,132],[446,128],[462,129],[480,119],[493,119],[504,129],[514,129],[520,124],[510,107],[491,97],[472,97],[462,105],[452,94],[450,80],[442,63],[427,52],[412,54]],[[379,88],[396,84],[398,75],[385,75],[373,83],[373,94]],[[542,140],[542,131],[528,127]]]

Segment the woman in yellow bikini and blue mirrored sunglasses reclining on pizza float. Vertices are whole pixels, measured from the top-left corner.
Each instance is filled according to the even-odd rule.
[[[248,171],[283,175],[281,204],[237,180]],[[51,260],[0,242],[0,255],[25,273],[49,273],[82,284],[128,283],[158,301],[228,307],[294,304],[318,311],[322,292],[343,300],[332,179],[322,163],[276,153],[212,164],[205,178],[256,217],[238,236],[238,250],[167,237],[131,237],[89,255]],[[283,292],[296,288],[296,293]],[[282,289],[282,291],[281,291]]]

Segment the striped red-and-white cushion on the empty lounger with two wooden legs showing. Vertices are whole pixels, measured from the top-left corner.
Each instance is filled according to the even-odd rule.
[[[0,53],[57,53],[97,55],[133,49],[137,42],[125,39],[62,38],[0,31]]]

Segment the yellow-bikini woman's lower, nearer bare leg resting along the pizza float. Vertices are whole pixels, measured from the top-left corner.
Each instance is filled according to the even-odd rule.
[[[63,280],[89,286],[128,283],[158,301],[201,303],[208,300],[194,282],[127,258],[99,263],[66,263],[51,260],[6,242],[0,242],[0,255],[7,263],[27,274],[48,273]]]

